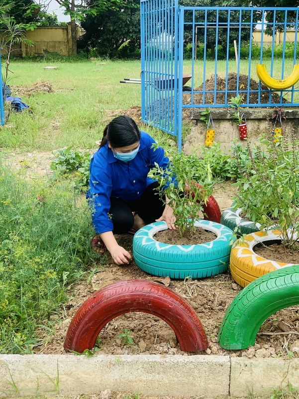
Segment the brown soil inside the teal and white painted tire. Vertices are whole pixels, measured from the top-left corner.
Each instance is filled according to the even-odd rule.
[[[183,237],[180,237],[179,230],[167,229],[163,231],[158,231],[154,235],[154,238],[157,241],[164,242],[165,244],[196,245],[213,241],[214,239],[217,238],[217,236],[211,231],[207,231],[201,227],[197,227],[193,235],[190,235],[189,228],[184,231]]]

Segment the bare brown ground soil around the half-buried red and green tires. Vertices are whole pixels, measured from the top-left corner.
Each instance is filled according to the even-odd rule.
[[[215,185],[214,197],[223,210],[231,205],[235,187],[231,182]],[[132,254],[131,234],[116,236],[118,243]],[[101,255],[99,255],[101,256]],[[43,341],[34,348],[34,353],[65,354],[63,342],[72,317],[80,305],[94,292],[116,281],[128,279],[160,280],[169,288],[182,295],[195,309],[205,329],[209,347],[201,355],[229,355],[231,357],[288,357],[292,351],[294,357],[299,357],[299,306],[283,309],[272,315],[261,326],[254,347],[242,351],[227,351],[217,344],[217,334],[224,314],[242,289],[226,272],[218,276],[204,279],[170,280],[152,276],[141,269],[132,260],[130,264],[119,266],[113,263],[109,253],[106,253],[106,265],[98,266],[96,272],[90,272],[86,281],[69,289],[69,300],[52,315],[50,320],[44,320],[48,326],[38,330]],[[49,333],[51,326],[52,332]],[[124,330],[131,331],[134,343],[126,345],[123,338],[118,337]],[[111,320],[100,332],[100,351],[113,355],[121,354],[181,354],[184,356],[197,353],[182,352],[176,341],[173,330],[161,319],[145,313],[128,313]],[[69,355],[74,356],[74,355]]]

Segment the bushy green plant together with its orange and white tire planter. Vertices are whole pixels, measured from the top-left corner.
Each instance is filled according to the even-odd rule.
[[[233,245],[230,269],[242,286],[299,263],[299,141],[284,144],[281,139],[281,145],[274,146],[262,137],[260,144],[264,148],[257,146],[256,159],[250,157],[250,173],[245,170],[235,183],[235,207],[263,230],[244,235]]]

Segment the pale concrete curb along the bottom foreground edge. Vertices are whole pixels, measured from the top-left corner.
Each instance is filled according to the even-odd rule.
[[[253,393],[267,398],[274,388],[289,383],[299,388],[298,358],[0,355],[0,393],[8,397],[95,394],[110,389],[174,397],[248,398]]]

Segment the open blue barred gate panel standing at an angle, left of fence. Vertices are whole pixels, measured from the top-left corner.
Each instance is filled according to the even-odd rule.
[[[178,0],[141,0],[141,119],[178,134]]]

